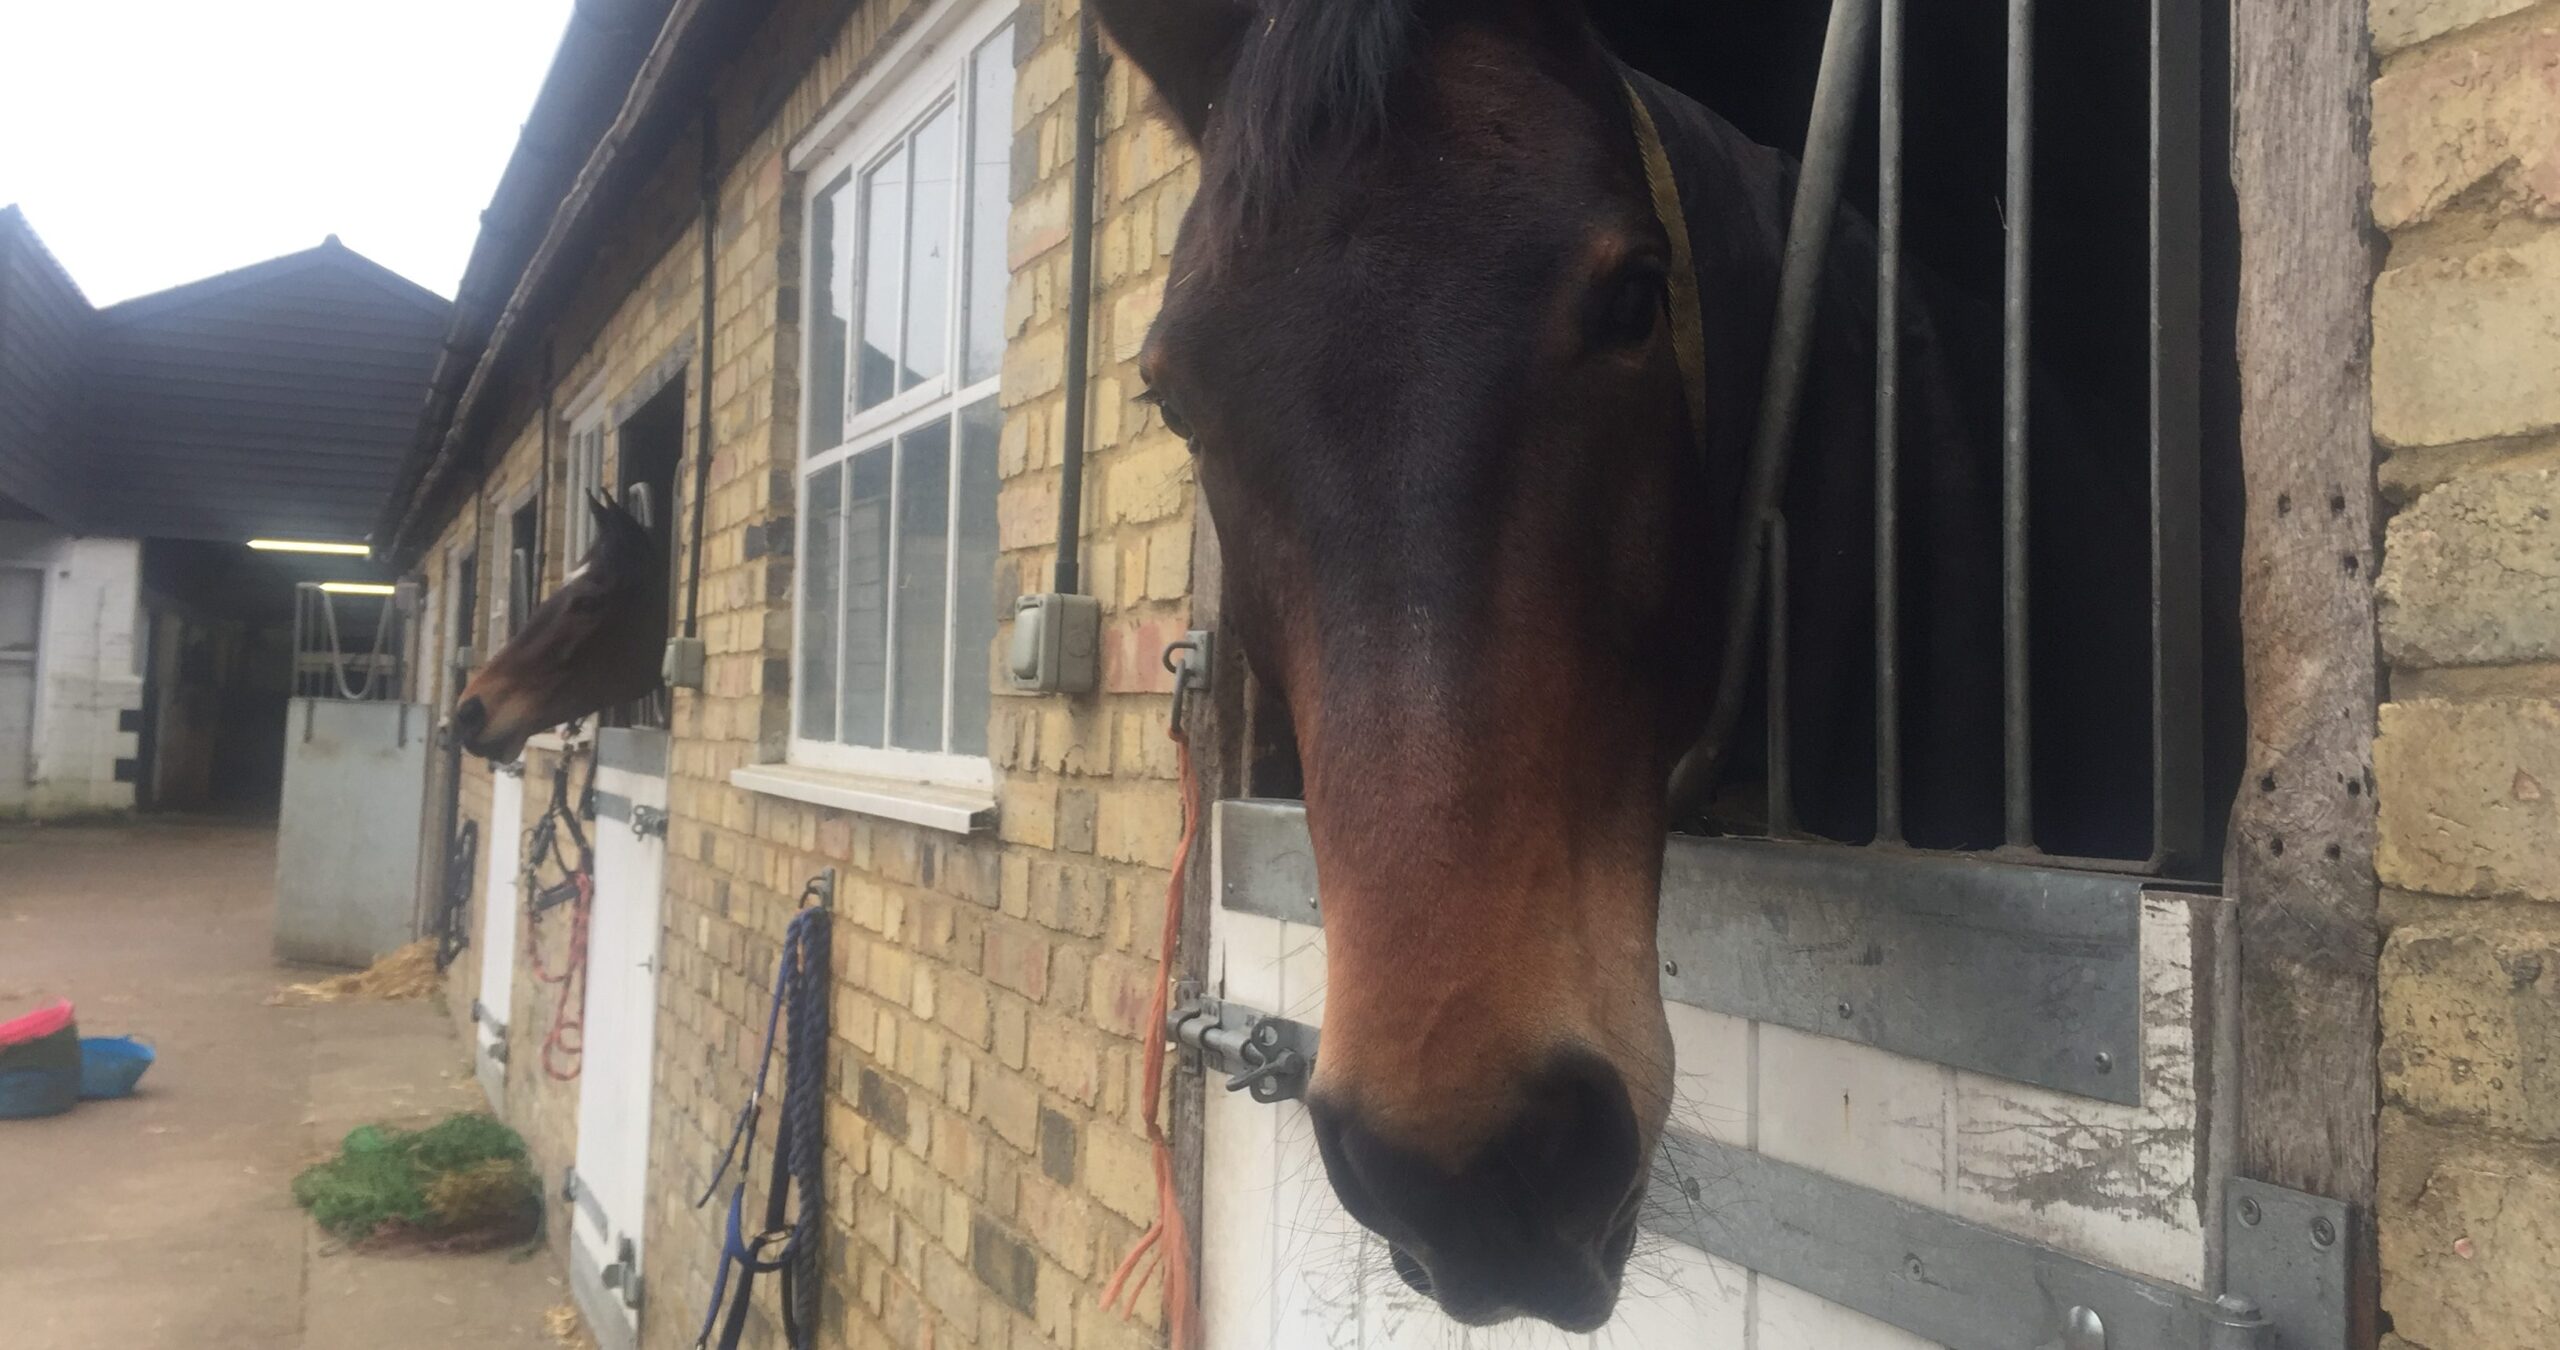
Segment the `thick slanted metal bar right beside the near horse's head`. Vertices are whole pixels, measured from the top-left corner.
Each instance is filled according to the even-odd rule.
[[[1830,223],[1841,205],[1841,172],[1848,161],[1851,120],[1859,113],[1866,44],[1876,36],[1876,0],[1833,0],[1830,28],[1823,36],[1823,69],[1812,82],[1812,123],[1805,128],[1805,167],[1795,182],[1787,215],[1787,248],[1779,259],[1777,315],[1769,333],[1769,371],[1761,379],[1759,423],[1751,433],[1751,466],[1743,479],[1738,538],[1733,541],[1733,592],[1725,599],[1723,658],[1715,674],[1715,704],[1697,745],[1672,769],[1672,815],[1695,809],[1723,769],[1733,725],[1741,720],[1751,676],[1751,633],[1759,622],[1761,530],[1777,510],[1787,482],[1787,451],[1795,446],[1797,405],[1805,394],[1805,364],[1812,351],[1815,300],[1823,261],[1830,254]]]

